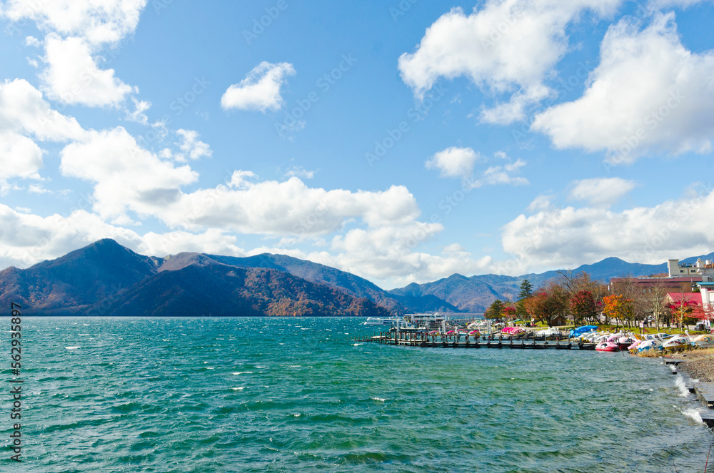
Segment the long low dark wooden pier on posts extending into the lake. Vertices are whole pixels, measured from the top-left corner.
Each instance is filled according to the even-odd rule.
[[[422,332],[379,332],[379,335],[362,336],[354,339],[356,342],[381,343],[384,345],[399,345],[419,348],[501,348],[516,350],[595,350],[596,343],[570,342],[560,340],[535,339],[513,340],[481,340],[480,338],[442,337],[441,335],[426,335]]]

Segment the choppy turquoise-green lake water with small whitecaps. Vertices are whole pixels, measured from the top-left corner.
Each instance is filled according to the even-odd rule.
[[[714,436],[659,360],[364,344],[359,322],[25,317],[24,463],[0,414],[0,471],[704,469]]]

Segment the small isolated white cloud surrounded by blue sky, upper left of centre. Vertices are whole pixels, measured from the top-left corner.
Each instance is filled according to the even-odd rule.
[[[221,97],[224,110],[278,110],[283,106],[281,87],[295,69],[290,63],[269,63],[263,61],[253,68],[239,83],[228,87]]]

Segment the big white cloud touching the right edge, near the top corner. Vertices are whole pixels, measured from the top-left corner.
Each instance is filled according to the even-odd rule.
[[[607,151],[631,163],[650,151],[706,152],[714,137],[714,53],[681,44],[674,14],[642,31],[630,19],[605,34],[600,65],[581,98],[535,117],[556,148]]]

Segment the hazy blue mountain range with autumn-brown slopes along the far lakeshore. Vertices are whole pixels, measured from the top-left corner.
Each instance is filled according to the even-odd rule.
[[[698,257],[683,260],[691,263]],[[714,259],[714,253],[702,255]],[[606,258],[582,265],[593,280],[665,273],[666,264]],[[326,265],[286,255],[247,258],[178,253],[144,256],[111,239],[56,260],[0,271],[0,303],[25,315],[353,315],[483,312],[493,300],[515,300],[524,279],[538,287],[558,271],[522,276],[454,274],[432,283],[383,290]]]

